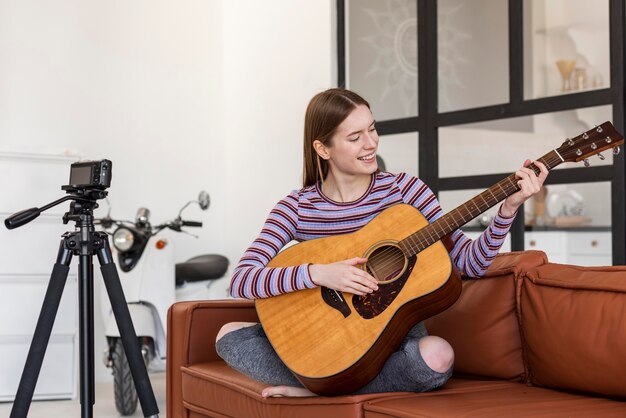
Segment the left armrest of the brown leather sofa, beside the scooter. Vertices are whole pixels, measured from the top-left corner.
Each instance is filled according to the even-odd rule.
[[[215,337],[228,322],[258,322],[250,300],[213,300],[179,302],[167,315],[167,388],[168,417],[184,417],[180,368],[218,360]]]

